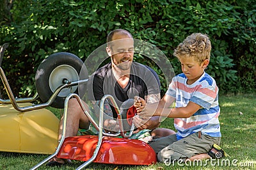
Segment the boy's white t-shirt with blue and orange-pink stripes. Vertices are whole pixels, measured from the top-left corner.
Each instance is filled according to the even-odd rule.
[[[184,73],[173,77],[166,95],[176,99],[175,107],[186,107],[189,102],[194,102],[202,108],[189,118],[174,119],[177,139],[182,139],[199,131],[204,135],[221,137],[218,120],[220,106],[218,104],[218,86],[216,82],[205,72],[193,84],[187,84],[187,80]]]

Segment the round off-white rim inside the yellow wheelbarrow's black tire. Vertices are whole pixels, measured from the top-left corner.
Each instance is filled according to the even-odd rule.
[[[63,79],[67,79],[68,82],[78,81],[79,75],[76,69],[70,65],[60,65],[52,70],[49,77],[49,87],[52,93],[61,85],[63,85]],[[77,86],[71,86],[70,88],[61,89],[58,97],[67,97],[68,94],[74,93]]]

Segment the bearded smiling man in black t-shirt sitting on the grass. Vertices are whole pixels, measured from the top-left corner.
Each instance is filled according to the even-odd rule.
[[[118,107],[121,107],[126,100],[135,96],[140,96],[150,103],[160,100],[159,78],[156,72],[152,68],[132,62],[134,40],[131,33],[124,29],[111,31],[107,38],[106,51],[111,58],[111,63],[99,68],[88,81],[88,98],[92,100],[93,104],[91,111],[96,111],[95,114],[99,114],[99,112],[97,113],[97,108],[99,108],[100,99],[104,95],[112,95]],[[88,105],[85,103],[84,105],[86,105],[86,109],[89,112]],[[117,115],[115,108],[106,102],[104,104],[104,113],[106,114],[105,117],[107,117],[104,120],[104,128],[109,131],[116,131],[118,124],[115,120],[112,120]],[[132,122],[137,128],[134,131],[135,134],[140,131],[140,134],[145,132],[153,137],[161,137],[175,133],[172,130],[157,128],[160,125],[159,117],[157,116],[149,120],[134,116]],[[71,98],[68,101],[66,137],[77,135],[79,128],[88,129],[89,125],[90,121],[76,98]],[[59,139],[61,138],[62,127],[61,119]],[[54,157],[47,165],[56,166],[67,162],[69,160]]]

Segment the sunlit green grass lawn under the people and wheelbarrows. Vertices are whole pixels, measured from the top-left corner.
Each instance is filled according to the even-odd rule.
[[[92,163],[87,169],[256,169],[256,94],[220,95],[221,148],[230,157],[217,161],[193,162],[189,164],[150,166],[122,166]],[[173,128],[168,118],[161,127]],[[48,155],[0,152],[0,169],[30,169]],[[76,169],[82,164],[74,161],[70,166],[39,169]]]

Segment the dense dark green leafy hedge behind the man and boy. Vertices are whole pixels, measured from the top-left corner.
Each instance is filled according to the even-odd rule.
[[[253,91],[255,7],[249,0],[14,1],[12,24],[1,25],[0,44],[9,43],[3,68],[15,94],[30,95],[35,91],[36,68],[44,58],[65,51],[85,60],[106,42],[109,31],[123,28],[134,38],[156,45],[174,72],[180,73],[173,49],[186,36],[200,32],[211,38],[211,62],[206,71],[221,91]],[[159,73],[164,93],[168,84],[157,65],[144,58],[136,61]]]

